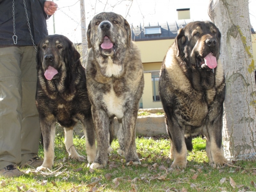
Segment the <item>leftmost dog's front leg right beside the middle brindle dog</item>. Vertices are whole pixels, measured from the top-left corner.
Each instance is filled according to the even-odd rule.
[[[96,157],[96,144],[95,144],[95,130],[93,125],[92,116],[87,116],[85,121],[82,122],[84,137],[85,137],[85,148],[87,154],[88,163],[93,163]]]

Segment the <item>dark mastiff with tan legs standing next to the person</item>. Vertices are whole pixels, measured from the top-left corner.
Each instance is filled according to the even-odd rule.
[[[44,163],[39,170],[52,168],[56,121],[64,127],[69,157],[85,160],[73,145],[73,128],[79,120],[84,129],[87,160],[92,163],[96,156],[91,104],[79,58],[73,43],[63,35],[49,35],[38,44],[36,105],[44,138]]]

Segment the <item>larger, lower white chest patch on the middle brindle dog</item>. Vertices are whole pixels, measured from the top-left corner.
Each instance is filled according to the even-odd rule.
[[[121,119],[124,116],[123,96],[117,97],[116,93],[113,90],[113,87],[111,88],[110,92],[103,95],[103,102],[107,106],[110,116],[115,115],[118,119]]]

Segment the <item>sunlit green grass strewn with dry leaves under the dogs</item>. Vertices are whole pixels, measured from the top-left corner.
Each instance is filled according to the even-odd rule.
[[[166,192],[166,191],[256,191],[251,181],[256,182],[255,162],[234,162],[237,167],[209,166],[205,152],[205,140],[201,137],[193,139],[193,151],[188,153],[186,169],[170,169],[170,143],[167,137],[155,139],[137,137],[137,152],[141,159],[139,166],[126,166],[124,157],[116,153],[118,141],[112,143],[113,153],[105,169],[92,171],[86,162],[77,162],[68,158],[64,135],[58,128],[55,137],[55,162],[59,175],[41,175],[34,169],[22,177],[0,177],[0,192],[34,191],[34,192]],[[84,139],[75,136],[74,145],[80,154],[86,156]],[[44,151],[40,147],[39,156],[43,158]],[[226,179],[224,179],[226,178]],[[236,182],[235,188],[230,184],[230,178]],[[220,180],[224,180],[220,183]],[[232,180],[231,180],[232,181]],[[19,188],[19,190],[18,190]]]

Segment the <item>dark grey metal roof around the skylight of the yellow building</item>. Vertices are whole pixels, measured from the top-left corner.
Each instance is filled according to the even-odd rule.
[[[192,19],[181,19],[176,21],[166,22],[149,22],[149,23],[132,23],[132,40],[133,41],[148,41],[148,40],[161,40],[161,39],[174,39],[180,28],[192,22]],[[145,35],[145,27],[161,26],[161,34]]]

